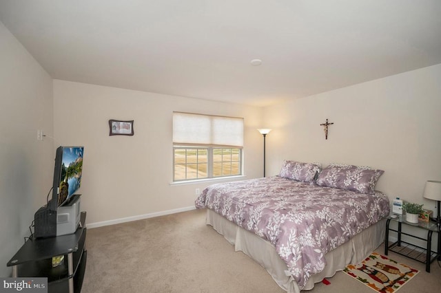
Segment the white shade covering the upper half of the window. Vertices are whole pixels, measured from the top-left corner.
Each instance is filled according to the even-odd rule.
[[[174,112],[173,143],[243,146],[243,118]]]

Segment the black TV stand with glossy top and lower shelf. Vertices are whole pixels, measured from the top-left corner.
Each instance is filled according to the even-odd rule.
[[[73,234],[31,238],[10,259],[12,277],[47,277],[48,292],[81,292],[88,253],[85,248],[85,212]],[[52,268],[52,257],[64,255],[61,265]]]

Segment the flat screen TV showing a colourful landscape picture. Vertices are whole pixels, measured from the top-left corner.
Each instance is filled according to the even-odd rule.
[[[83,171],[83,146],[59,146],[55,155],[54,182],[50,209],[57,210],[81,186]]]

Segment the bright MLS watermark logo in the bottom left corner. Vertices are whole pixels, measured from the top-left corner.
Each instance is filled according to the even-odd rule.
[[[0,293],[48,293],[48,278],[0,278]]]

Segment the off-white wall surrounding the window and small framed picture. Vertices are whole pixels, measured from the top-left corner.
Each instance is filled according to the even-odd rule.
[[[170,184],[173,111],[245,118],[245,175],[262,176],[260,108],[54,80],[56,143],[85,146],[88,225],[194,207],[195,189],[209,183]],[[109,119],[134,120],[134,136],[109,136]]]

